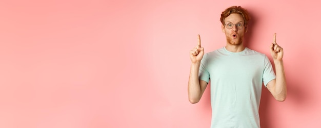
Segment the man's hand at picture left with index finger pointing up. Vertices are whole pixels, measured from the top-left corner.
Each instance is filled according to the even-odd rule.
[[[200,60],[202,60],[203,56],[204,56],[204,48],[202,46],[200,46],[200,36],[199,34],[198,36],[198,43],[197,46],[194,47],[194,49],[192,49],[190,51],[190,58],[192,63],[200,63]]]

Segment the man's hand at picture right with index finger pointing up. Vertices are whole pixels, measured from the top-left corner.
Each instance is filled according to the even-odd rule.
[[[273,61],[282,61],[283,58],[283,48],[276,44],[276,33],[273,36],[273,42],[270,46],[270,53]]]

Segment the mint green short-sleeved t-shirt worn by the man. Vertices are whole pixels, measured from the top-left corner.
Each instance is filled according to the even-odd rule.
[[[232,53],[225,47],[204,55],[199,79],[211,82],[211,128],[260,127],[262,84],[275,79],[268,57],[249,48]]]

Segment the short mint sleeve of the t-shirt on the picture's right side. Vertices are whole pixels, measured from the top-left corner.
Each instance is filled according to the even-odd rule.
[[[267,56],[264,57],[263,84],[266,87],[268,83],[275,79],[272,64]]]

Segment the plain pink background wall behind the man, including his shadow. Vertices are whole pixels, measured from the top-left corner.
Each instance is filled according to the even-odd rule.
[[[225,46],[220,13],[252,15],[247,46],[284,47],[288,97],[263,89],[261,125],[318,127],[317,1],[1,1],[0,127],[209,127],[209,88],[190,104],[189,50]]]

